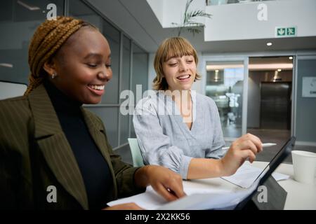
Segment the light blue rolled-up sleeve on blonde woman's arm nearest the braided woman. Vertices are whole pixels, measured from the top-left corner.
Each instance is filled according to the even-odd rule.
[[[171,144],[171,139],[163,133],[154,106],[148,102],[138,104],[133,115],[133,125],[145,164],[167,167],[187,179],[187,169],[192,158]]]

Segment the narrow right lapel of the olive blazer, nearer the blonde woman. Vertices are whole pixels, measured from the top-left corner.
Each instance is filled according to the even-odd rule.
[[[83,115],[84,115],[84,120],[86,121],[86,125],[88,126],[88,130],[91,134],[91,137],[93,141],[95,141],[96,145],[98,146],[99,151],[102,153],[103,158],[105,158],[107,165],[110,168],[111,174],[112,174],[112,180],[114,184],[114,198],[117,197],[117,183],[114,181],[115,174],[114,174],[114,169],[112,167],[112,162],[110,158],[110,153],[107,151],[107,141],[105,141],[105,129],[102,125],[102,123],[98,122],[96,118],[91,116],[91,114],[86,111],[86,109],[81,109]]]

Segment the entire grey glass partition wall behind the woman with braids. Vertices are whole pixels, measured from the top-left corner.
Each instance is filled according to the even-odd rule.
[[[135,137],[132,116],[122,115],[119,94],[123,90],[133,90],[136,85],[147,90],[148,53],[141,49],[110,20],[91,7],[88,1],[79,0],[3,0],[0,8],[0,98],[22,94],[23,88],[8,83],[28,83],[29,66],[27,54],[29,41],[35,29],[46,20],[47,6],[54,3],[57,15],[80,18],[98,27],[110,44],[113,77],[105,87],[102,102],[97,105],[84,105],[96,113],[105,124],[107,137],[112,148],[127,144],[128,137]],[[64,8],[64,5],[65,8]],[[12,87],[14,86],[14,88]],[[25,88],[25,85],[22,85]],[[135,99],[136,102],[136,99]]]

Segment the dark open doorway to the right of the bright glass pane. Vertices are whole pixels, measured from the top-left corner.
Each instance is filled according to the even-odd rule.
[[[271,156],[291,136],[292,79],[291,55],[249,57],[247,132],[276,143]]]

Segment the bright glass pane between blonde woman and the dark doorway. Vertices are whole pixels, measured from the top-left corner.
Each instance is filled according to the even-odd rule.
[[[244,61],[206,62],[206,95],[218,107],[224,137],[242,135]]]

